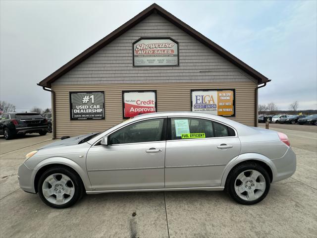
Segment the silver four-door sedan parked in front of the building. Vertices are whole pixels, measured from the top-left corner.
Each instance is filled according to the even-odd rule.
[[[296,170],[285,134],[204,113],[137,116],[102,133],[32,151],[19,167],[23,190],[65,208],[83,194],[223,190],[237,202],[264,199]]]

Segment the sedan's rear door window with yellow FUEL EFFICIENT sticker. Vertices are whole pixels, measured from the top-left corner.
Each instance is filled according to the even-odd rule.
[[[195,139],[213,137],[211,120],[197,118],[172,118],[171,139]]]

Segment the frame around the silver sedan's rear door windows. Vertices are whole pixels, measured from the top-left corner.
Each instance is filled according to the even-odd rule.
[[[194,118],[194,119],[203,119],[203,120],[210,120],[212,122],[212,130],[213,130],[213,134],[214,134],[214,128],[213,128],[213,122],[217,122],[220,123],[222,125],[225,125],[227,127],[230,127],[231,129],[233,129],[235,135],[234,136],[219,136],[219,137],[207,137],[207,138],[191,138],[191,139],[176,139],[176,140],[172,140],[172,123],[171,123],[171,119],[175,119],[175,118],[183,118],[183,119],[187,119],[187,118]],[[210,119],[210,118],[203,118],[203,117],[193,117],[193,116],[174,116],[174,117],[168,117],[167,119],[167,131],[166,131],[166,141],[187,141],[187,140],[206,140],[206,139],[218,139],[218,138],[234,138],[234,137],[238,137],[238,132],[235,128],[233,128],[231,125],[228,125],[222,121],[218,121],[218,120],[214,120],[214,119]]]

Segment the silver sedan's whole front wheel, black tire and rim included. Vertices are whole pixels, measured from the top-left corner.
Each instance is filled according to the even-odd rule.
[[[53,208],[67,208],[84,195],[84,185],[79,175],[72,169],[56,166],[45,171],[40,177],[38,191],[46,205]],[[57,201],[57,196],[60,201]]]

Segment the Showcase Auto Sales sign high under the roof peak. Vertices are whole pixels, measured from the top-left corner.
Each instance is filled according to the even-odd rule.
[[[133,43],[134,66],[178,65],[177,42],[165,39],[140,39]]]

